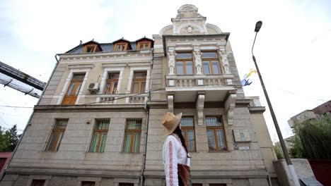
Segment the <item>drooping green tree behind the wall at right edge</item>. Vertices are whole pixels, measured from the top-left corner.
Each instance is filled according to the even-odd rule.
[[[324,116],[296,124],[293,158],[331,159],[331,117]]]

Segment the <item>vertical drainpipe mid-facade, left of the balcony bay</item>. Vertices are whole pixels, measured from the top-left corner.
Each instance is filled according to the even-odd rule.
[[[140,186],[145,185],[145,178],[144,178],[144,173],[145,173],[145,167],[146,167],[146,154],[147,154],[147,137],[149,135],[149,107],[147,106],[147,101],[151,100],[151,85],[152,85],[152,70],[153,70],[153,63],[154,63],[154,49],[151,49],[152,52],[152,60],[151,60],[151,70],[150,70],[150,75],[149,75],[149,94],[148,94],[148,100],[145,101],[145,107],[144,109],[147,111],[147,119],[146,119],[146,128],[145,128],[145,141],[144,141],[144,154],[143,154],[143,163],[141,167],[141,175],[140,175]]]

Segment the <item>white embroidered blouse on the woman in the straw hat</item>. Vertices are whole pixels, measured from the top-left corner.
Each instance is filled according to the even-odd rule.
[[[163,164],[167,186],[178,186],[177,164],[190,166],[190,158],[182,147],[178,135],[168,135],[163,144]]]

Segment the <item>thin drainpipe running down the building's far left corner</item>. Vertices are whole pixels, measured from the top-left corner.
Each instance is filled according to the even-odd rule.
[[[50,80],[51,80],[51,78],[53,77],[53,74],[54,74],[54,72],[55,72],[55,69],[57,68],[57,65],[59,64],[59,60],[57,59],[57,56],[59,56],[59,54],[55,54],[55,56],[54,56],[55,59],[57,60],[57,63],[55,64],[55,66],[54,66],[54,68],[53,68],[52,74],[50,75],[50,78],[48,79],[45,88],[42,89],[42,94],[40,95],[40,98],[38,99],[36,105],[39,105],[40,100],[42,99],[42,96],[43,96],[44,93],[45,93],[45,90],[47,89],[48,85],[50,84]],[[29,125],[29,123],[30,123],[30,121],[31,121],[31,119],[32,119],[34,113],[35,113],[35,109],[33,109],[33,113],[31,113],[30,118],[28,119],[28,123],[26,123],[26,125],[25,125],[25,128],[24,128],[24,130],[23,130],[23,133],[22,133],[20,139],[18,140],[15,149],[13,150],[13,154],[11,154],[11,159],[9,159],[8,163],[6,164],[6,168],[5,168],[5,170],[4,170],[4,173],[2,173],[2,175],[1,175],[1,177],[0,177],[0,182],[2,181],[2,179],[4,179],[4,176],[6,175],[6,170],[7,170],[7,168],[8,168],[8,165],[9,165],[9,163],[11,163],[11,160],[13,159],[13,156],[15,155],[18,146],[21,144],[21,140],[22,140],[22,138],[24,137],[26,130],[28,129],[28,125]]]

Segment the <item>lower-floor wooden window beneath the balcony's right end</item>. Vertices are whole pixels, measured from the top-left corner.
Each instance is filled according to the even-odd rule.
[[[209,151],[226,151],[226,137],[221,116],[206,116]]]

